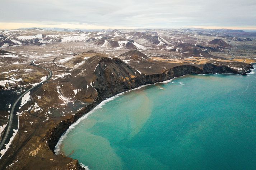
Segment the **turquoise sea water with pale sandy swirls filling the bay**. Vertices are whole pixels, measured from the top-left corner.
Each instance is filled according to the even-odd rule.
[[[255,169],[256,74],[187,75],[124,93],[65,135],[89,169]]]

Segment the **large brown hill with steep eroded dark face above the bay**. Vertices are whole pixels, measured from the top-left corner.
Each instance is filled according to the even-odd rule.
[[[101,98],[103,91],[118,91],[115,87],[122,87],[123,82],[130,81],[140,74],[119,58],[90,51],[76,55],[62,65],[68,68],[72,75],[67,75],[70,84],[73,84],[74,88],[82,89],[75,98],[86,102]],[[66,94],[69,91],[70,89],[64,89]]]

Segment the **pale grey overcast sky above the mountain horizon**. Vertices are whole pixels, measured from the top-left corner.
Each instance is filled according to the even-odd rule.
[[[0,4],[1,27],[34,23],[109,28],[256,28],[256,0],[1,0]]]

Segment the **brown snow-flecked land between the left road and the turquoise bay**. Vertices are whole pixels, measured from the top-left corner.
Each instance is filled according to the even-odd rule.
[[[53,75],[48,82],[33,91],[31,100],[20,111],[20,133],[17,133],[13,145],[1,158],[0,169],[6,169],[15,160],[19,160],[18,163],[9,166],[9,169],[80,169],[77,160],[55,155],[53,150],[67,128],[104,99],[185,74],[246,74],[252,68],[251,64],[236,60],[200,58],[199,62],[195,57],[190,60],[178,58],[177,61],[177,58],[149,57],[135,50],[120,57],[127,59],[125,56],[128,59],[140,59],[140,62],[128,64],[120,58],[92,51],[55,58],[51,64],[42,61],[44,58],[41,62],[36,60],[35,64],[51,69]],[[31,66],[30,69],[34,67],[27,63],[24,65]],[[31,72],[41,75],[37,80],[47,75],[46,72],[41,73],[40,68],[37,69],[38,72]],[[148,74],[145,75],[146,71]],[[26,77],[30,76],[26,74]],[[69,112],[69,108],[77,107],[78,101],[83,102],[79,107],[85,108]]]

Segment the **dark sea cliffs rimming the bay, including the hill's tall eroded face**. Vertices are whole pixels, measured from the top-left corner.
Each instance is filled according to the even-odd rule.
[[[248,64],[247,69],[253,68],[251,64]],[[102,58],[99,61],[99,65],[95,70],[96,81],[94,81],[93,87],[98,92],[98,97],[95,101],[80,110],[72,118],[61,121],[52,131],[48,137],[48,146],[51,150],[54,150],[61,135],[69,128],[69,126],[77,121],[84,114],[91,111],[101,101],[106,98],[115,96],[118,93],[143,86],[146,84],[154,84],[158,82],[167,81],[174,77],[184,76],[186,74],[209,74],[209,73],[233,73],[233,74],[246,74],[245,72],[238,72],[235,69],[227,67],[225,65],[214,65],[206,63],[201,67],[195,67],[192,65],[179,65],[171,69],[167,69],[163,73],[144,75],[136,72],[132,67],[122,62],[118,58]],[[137,74],[137,75],[136,75]]]

